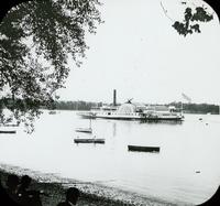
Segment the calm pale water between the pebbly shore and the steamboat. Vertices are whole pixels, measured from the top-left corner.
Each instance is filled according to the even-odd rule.
[[[172,124],[97,119],[92,135],[106,143],[75,144],[77,135],[91,135],[75,128],[88,126],[75,111],[45,111],[31,135],[22,128],[0,134],[0,163],[193,204],[210,198],[220,183],[220,116],[185,115]],[[128,144],[161,151],[129,152]]]

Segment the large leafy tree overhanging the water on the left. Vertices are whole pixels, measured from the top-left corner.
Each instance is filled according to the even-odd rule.
[[[34,0],[13,7],[0,24],[0,118],[3,108],[33,130],[42,106],[64,87],[69,55],[80,66],[85,34],[101,23],[98,0]]]

